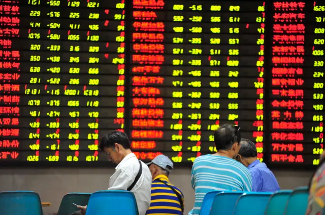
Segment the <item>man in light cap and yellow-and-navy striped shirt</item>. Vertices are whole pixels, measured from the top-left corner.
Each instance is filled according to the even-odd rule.
[[[158,155],[147,165],[153,181],[150,207],[146,214],[183,214],[184,195],[168,179],[174,167],[173,162],[165,155]]]

